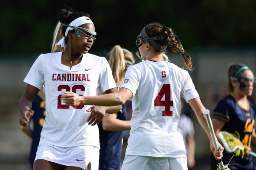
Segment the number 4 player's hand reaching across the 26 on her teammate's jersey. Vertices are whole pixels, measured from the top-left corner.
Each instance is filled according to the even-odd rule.
[[[61,100],[69,106],[79,106],[81,105],[82,96],[77,95],[74,92],[64,92],[64,95],[61,96]]]

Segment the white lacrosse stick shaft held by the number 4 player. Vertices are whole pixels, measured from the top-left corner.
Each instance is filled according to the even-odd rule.
[[[217,144],[217,139],[216,139],[213,127],[212,127],[212,120],[211,120],[211,117],[210,117],[210,111],[208,109],[205,109],[204,110],[204,115],[206,116],[206,119],[207,119],[207,124],[208,124],[208,128],[209,128],[209,131],[210,131],[210,134],[211,134],[214,149],[218,151],[218,144]],[[219,159],[218,162],[219,162],[218,170],[230,170],[227,166],[224,166],[221,159]]]

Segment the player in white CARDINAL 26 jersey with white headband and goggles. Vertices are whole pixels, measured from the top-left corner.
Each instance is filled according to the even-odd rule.
[[[57,43],[64,52],[41,54],[24,81],[28,84],[20,99],[20,124],[29,125],[31,103],[45,85],[46,118],[34,162],[34,170],[98,170],[99,129],[94,126],[116,107],[67,106],[65,91],[78,95],[117,92],[111,68],[104,57],[88,53],[96,35],[90,15],[62,9],[64,37]]]

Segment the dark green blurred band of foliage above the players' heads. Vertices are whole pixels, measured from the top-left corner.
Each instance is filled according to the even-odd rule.
[[[91,15],[97,32],[91,51],[134,48],[151,22],[171,27],[185,49],[256,45],[255,0],[21,0],[0,3],[0,53],[49,52],[64,5]]]

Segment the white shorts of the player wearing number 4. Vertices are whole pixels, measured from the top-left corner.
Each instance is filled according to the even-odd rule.
[[[125,155],[122,170],[187,170],[187,158]]]

